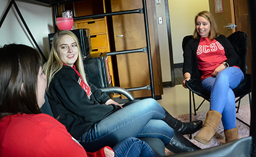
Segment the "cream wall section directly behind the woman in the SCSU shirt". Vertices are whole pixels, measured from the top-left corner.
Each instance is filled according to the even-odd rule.
[[[209,9],[209,0],[168,0],[173,45],[173,62],[183,63],[181,42],[184,36],[192,34],[194,17],[202,10]]]

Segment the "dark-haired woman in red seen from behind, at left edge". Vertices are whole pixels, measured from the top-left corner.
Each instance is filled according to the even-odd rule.
[[[147,143],[128,138],[89,153],[56,119],[39,114],[46,76],[39,53],[28,46],[0,48],[0,156],[152,156]]]

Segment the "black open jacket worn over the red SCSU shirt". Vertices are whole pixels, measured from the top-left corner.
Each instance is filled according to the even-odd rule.
[[[226,58],[228,58],[225,62],[228,63],[229,66],[237,65],[238,57],[234,47],[229,42],[229,40],[224,36],[220,35],[215,38],[225,49]],[[188,72],[191,74],[191,79],[200,79],[201,73],[199,71],[197,65],[197,47],[199,45],[199,39],[190,39],[186,46],[184,47],[183,53],[183,74]]]

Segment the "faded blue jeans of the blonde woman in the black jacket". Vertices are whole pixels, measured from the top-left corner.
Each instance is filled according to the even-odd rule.
[[[99,121],[80,138],[80,142],[91,152],[104,146],[114,147],[127,137],[154,137],[167,145],[174,130],[162,121],[164,117],[165,110],[156,100],[144,99]]]

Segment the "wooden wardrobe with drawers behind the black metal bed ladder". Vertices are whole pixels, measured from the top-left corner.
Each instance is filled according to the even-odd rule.
[[[105,1],[107,4],[105,4]],[[107,10],[118,12],[142,8],[141,0],[86,0],[74,2],[75,17],[104,14]],[[160,66],[157,20],[155,19],[155,1],[146,0],[149,36],[151,41],[152,68],[154,74],[155,95],[163,94],[162,73]],[[98,6],[98,7],[96,7]],[[92,53],[131,50],[147,47],[144,14],[123,14],[112,17],[94,18],[75,21],[76,28],[89,28]],[[109,29],[109,28],[111,29]],[[109,30],[111,33],[109,33]],[[111,41],[111,42],[110,42]],[[110,47],[112,46],[112,47]],[[116,55],[110,70],[112,81],[125,89],[142,87],[151,84],[147,52]],[[118,76],[114,77],[115,74]],[[115,80],[115,79],[118,80]],[[114,84],[115,86],[115,84]],[[150,90],[131,92],[134,97],[151,97]]]

